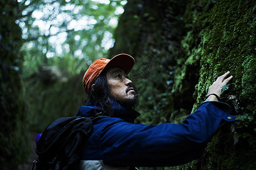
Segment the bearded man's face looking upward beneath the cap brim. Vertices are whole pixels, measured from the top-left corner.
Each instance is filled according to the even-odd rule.
[[[124,105],[134,105],[138,101],[138,94],[131,80],[128,79],[125,71],[119,67],[112,67],[106,72],[106,78],[109,84],[110,96]]]

